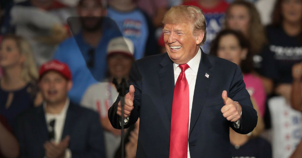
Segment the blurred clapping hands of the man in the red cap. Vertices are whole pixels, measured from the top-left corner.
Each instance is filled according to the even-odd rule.
[[[51,141],[44,143],[45,155],[47,158],[65,157],[65,150],[69,145],[70,137],[67,135],[59,144]]]

